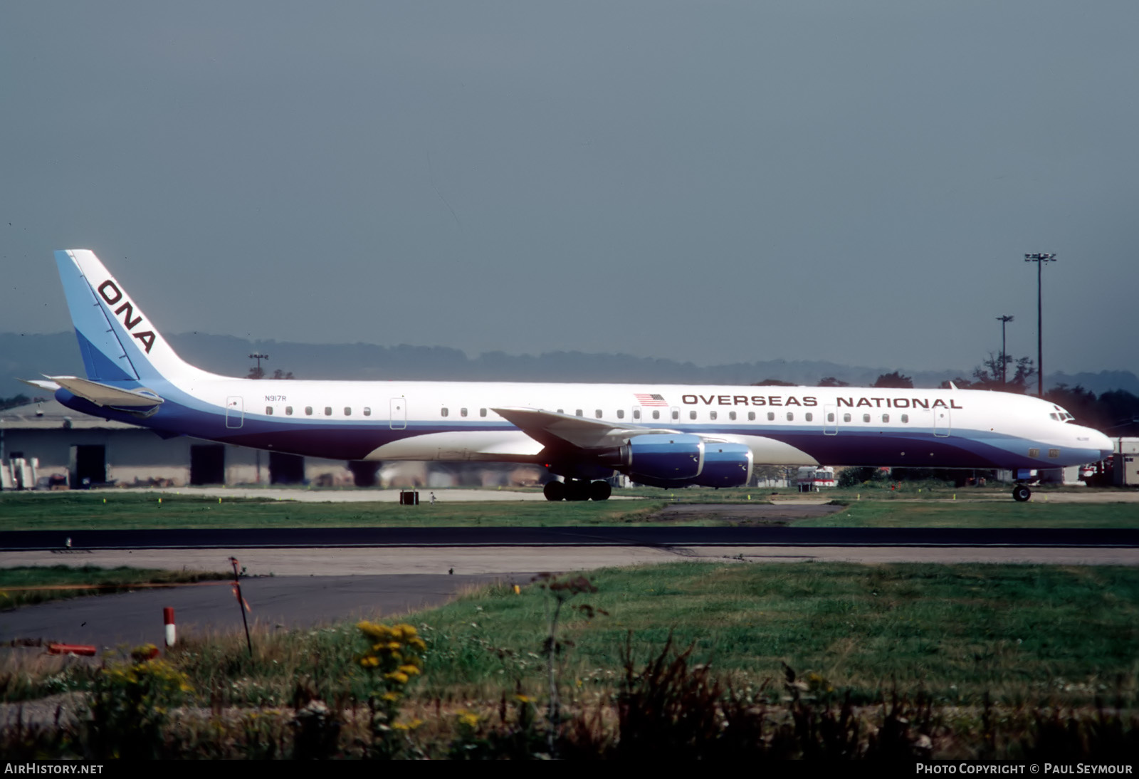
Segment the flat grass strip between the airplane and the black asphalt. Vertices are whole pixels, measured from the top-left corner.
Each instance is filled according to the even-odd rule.
[[[850,494],[846,494],[850,492]],[[763,495],[744,490],[681,490],[675,500],[601,503],[441,500],[434,506],[391,502],[310,503],[261,499],[206,498],[172,493],[51,492],[0,493],[3,530],[112,530],[141,527],[469,527],[665,524],[653,515],[672,502],[759,505]],[[748,501],[747,495],[753,500]],[[861,500],[857,497],[861,494]],[[951,498],[948,493],[945,498]],[[973,493],[969,493],[973,494]],[[1001,500],[904,500],[886,492],[827,493],[844,502],[831,516],[797,524],[851,527],[1139,527],[1139,503],[1016,503]],[[158,502],[158,499],[162,502]],[[106,501],[106,502],[104,502]],[[669,522],[667,524],[673,524]],[[723,524],[696,519],[683,524]]]

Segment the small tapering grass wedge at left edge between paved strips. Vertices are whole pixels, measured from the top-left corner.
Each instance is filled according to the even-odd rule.
[[[228,577],[232,577],[232,573]],[[84,565],[0,568],[0,610],[81,596],[122,592],[138,584],[178,584],[227,579],[224,572],[161,571],[157,568],[100,568]],[[82,585],[77,589],[24,589]]]

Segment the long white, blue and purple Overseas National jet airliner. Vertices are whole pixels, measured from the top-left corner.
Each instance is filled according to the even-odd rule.
[[[1036,469],[1112,442],[1048,401],[1002,392],[806,386],[274,380],[181,360],[89,249],[56,252],[85,377],[27,383],[153,429],[342,460],[544,465],[548,500],[606,500],[615,473],[657,487],[746,485],[754,464]]]

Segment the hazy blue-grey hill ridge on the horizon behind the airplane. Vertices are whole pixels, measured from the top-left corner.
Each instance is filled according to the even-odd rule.
[[[834,376],[854,386],[867,386],[882,374],[901,370],[913,377],[919,387],[935,387],[944,379],[969,377],[969,370],[911,371],[904,367],[852,367],[811,360],[768,360],[723,366],[696,366],[629,354],[585,354],[548,352],[540,355],[486,352],[468,358],[444,346],[378,346],[375,344],[297,344],[277,341],[247,341],[233,336],[182,333],[167,336],[171,345],[188,362],[227,376],[245,376],[252,361],[248,354],[269,354],[264,368],[292,371],[296,378],[326,379],[423,379],[468,382],[616,382],[633,384],[753,384],[768,378],[795,384],[818,384]],[[42,374],[77,374],[83,363],[72,333],[50,335],[0,334],[0,397],[19,392],[31,394],[17,378],[39,378]],[[1131,371],[1098,374],[1051,374],[1046,386],[1064,383],[1081,385],[1097,394],[1125,390],[1139,395],[1139,377]]]

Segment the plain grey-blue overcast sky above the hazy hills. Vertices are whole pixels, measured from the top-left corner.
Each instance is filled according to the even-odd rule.
[[[1139,372],[1139,3],[0,3],[0,331]],[[300,367],[296,367],[300,369]],[[49,370],[50,366],[44,366]]]

